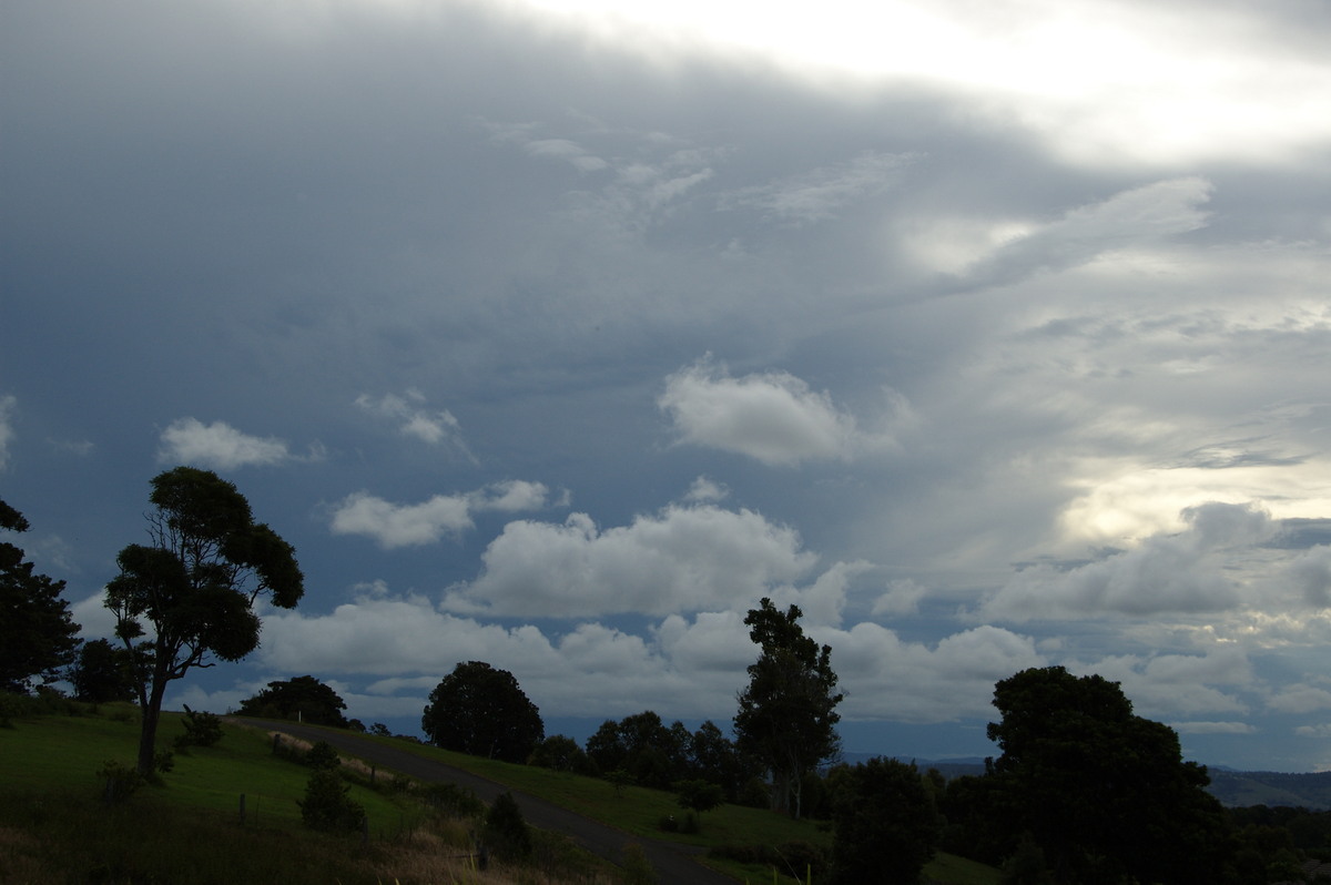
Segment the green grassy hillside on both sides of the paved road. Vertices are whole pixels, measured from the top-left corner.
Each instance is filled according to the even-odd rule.
[[[128,765],[134,757],[137,711],[108,705],[91,715],[92,711],[76,704],[57,705],[60,711],[40,716],[11,715],[9,727],[0,728],[0,881],[4,882],[611,885],[627,881],[623,870],[567,840],[539,833],[534,864],[478,870],[467,857],[474,822],[441,817],[414,791],[402,789],[401,783],[393,789],[394,779],[386,772],[378,772],[373,789],[367,777],[350,776],[351,797],[367,812],[369,838],[315,833],[302,825],[297,805],[309,769],[274,756],[266,733],[236,725],[225,727],[225,736],[216,747],[177,753],[164,785],[145,787],[124,804],[108,806],[101,798],[102,780],[97,771],[108,760]],[[166,716],[164,744],[181,731],[176,719]],[[669,793],[642,788],[616,793],[602,780],[402,743],[413,752],[611,822],[630,837],[662,838],[660,818],[680,813]],[[669,838],[703,848],[800,841],[827,845],[831,834],[813,822],[727,805],[703,817],[701,833]],[[716,865],[737,881],[785,885],[795,881],[789,876],[773,878],[773,869],[763,864],[717,861]],[[945,885],[997,881],[992,868],[952,856],[940,856],[928,876]]]

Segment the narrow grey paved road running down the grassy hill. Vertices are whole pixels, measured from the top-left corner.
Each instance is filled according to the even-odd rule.
[[[323,740],[346,753],[417,780],[466,787],[486,802],[492,802],[500,793],[511,792],[528,824],[540,829],[567,833],[583,848],[600,854],[611,862],[620,864],[623,861],[624,845],[638,842],[643,846],[662,885],[735,885],[735,880],[729,876],[723,876],[693,860],[691,854],[699,853],[696,848],[630,836],[614,826],[607,826],[590,817],[575,814],[567,808],[560,808],[559,805],[518,791],[510,791],[507,787],[462,771],[461,768],[453,768],[451,765],[445,765],[443,763],[437,763],[378,741],[365,740],[354,732],[287,721],[229,719],[241,725],[280,731],[311,743]]]

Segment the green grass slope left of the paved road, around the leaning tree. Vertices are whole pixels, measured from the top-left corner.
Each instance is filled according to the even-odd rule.
[[[32,705],[15,713],[4,701],[0,697],[0,882],[7,885],[522,881],[499,870],[475,873],[457,860],[470,852],[471,824],[439,820],[414,800],[361,785],[350,789],[367,810],[367,841],[305,828],[297,800],[309,769],[274,756],[262,733],[237,727],[224,727],[216,747],[177,753],[161,785],[144,785],[108,806],[96,772],[108,760],[129,767],[134,759],[133,708],[93,713],[60,704],[56,715],[33,715]],[[178,717],[164,717],[161,745],[181,731]]]

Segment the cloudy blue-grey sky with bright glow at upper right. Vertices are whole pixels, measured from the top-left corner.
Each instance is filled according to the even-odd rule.
[[[306,594],[174,683],[419,732],[728,727],[761,598],[849,752],[1122,684],[1331,769],[1331,8],[0,0],[0,498],[85,637],[149,480]]]

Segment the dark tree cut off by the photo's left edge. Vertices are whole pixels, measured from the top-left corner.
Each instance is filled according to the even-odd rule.
[[[0,530],[28,531],[28,520],[0,500]],[[25,695],[51,683],[79,649],[79,624],[60,594],[65,582],[33,574],[23,550],[0,542],[0,691]]]

